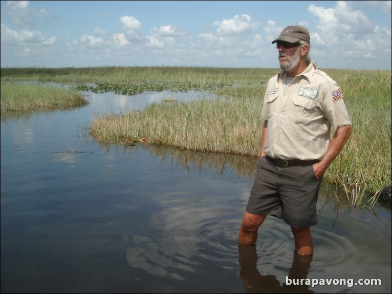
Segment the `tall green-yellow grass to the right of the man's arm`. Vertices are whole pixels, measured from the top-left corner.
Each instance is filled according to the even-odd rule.
[[[335,79],[353,133],[327,177],[345,186],[348,194],[360,188],[376,193],[391,185],[391,72],[353,71]]]

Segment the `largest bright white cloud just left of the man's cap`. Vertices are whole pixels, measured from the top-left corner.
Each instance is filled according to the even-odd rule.
[[[230,20],[215,21],[214,25],[218,25],[218,33],[223,35],[236,35],[244,32],[249,32],[257,26],[252,22],[249,15],[236,15]]]

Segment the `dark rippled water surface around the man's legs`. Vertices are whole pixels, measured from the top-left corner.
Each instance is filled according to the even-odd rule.
[[[255,159],[87,134],[94,113],[168,97],[200,95],[89,93],[1,121],[1,293],[391,293],[390,210],[336,209],[323,184],[311,259],[273,217],[239,248]],[[318,285],[289,285],[301,278]]]

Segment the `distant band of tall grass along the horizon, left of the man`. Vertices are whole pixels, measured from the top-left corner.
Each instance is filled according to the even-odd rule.
[[[2,81],[54,81],[71,83],[104,82],[240,82],[246,84],[265,83],[277,73],[277,69],[220,68],[182,66],[102,66],[64,68],[1,68]]]

